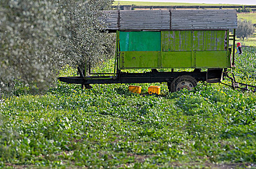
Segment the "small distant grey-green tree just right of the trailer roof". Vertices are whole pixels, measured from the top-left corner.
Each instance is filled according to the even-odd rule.
[[[236,29],[237,37],[244,40],[254,33],[254,26],[251,21],[238,19],[238,28]]]

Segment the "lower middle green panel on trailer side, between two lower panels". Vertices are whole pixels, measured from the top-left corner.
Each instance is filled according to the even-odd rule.
[[[191,52],[162,52],[162,68],[191,68]]]

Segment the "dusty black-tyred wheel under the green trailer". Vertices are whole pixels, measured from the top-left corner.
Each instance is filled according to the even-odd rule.
[[[188,90],[192,90],[197,84],[195,78],[189,75],[182,75],[177,77],[171,84],[168,89],[170,92],[176,92],[182,90],[183,88],[187,88]]]

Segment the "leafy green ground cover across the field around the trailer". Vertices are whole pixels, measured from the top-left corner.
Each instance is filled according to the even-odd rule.
[[[237,80],[256,85],[256,48],[243,52]],[[149,95],[151,84],[139,85],[141,95],[128,84],[58,82],[36,96],[20,86],[0,101],[0,167],[256,169],[255,93],[199,83],[176,93],[160,84]]]

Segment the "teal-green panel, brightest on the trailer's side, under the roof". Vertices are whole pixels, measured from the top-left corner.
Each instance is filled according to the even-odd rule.
[[[119,33],[121,51],[160,51],[161,34],[155,31]]]

